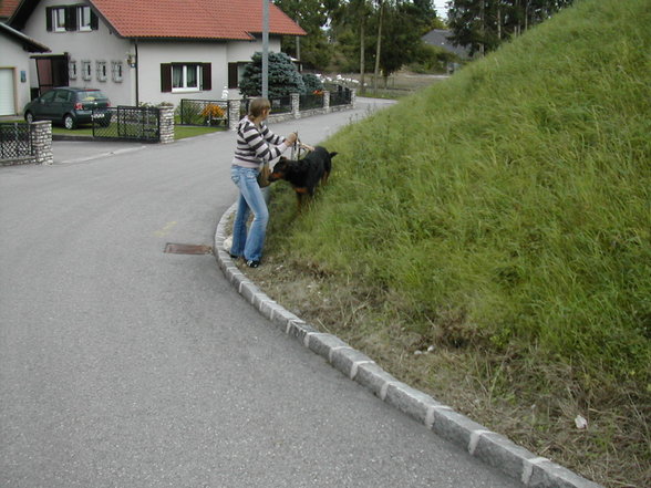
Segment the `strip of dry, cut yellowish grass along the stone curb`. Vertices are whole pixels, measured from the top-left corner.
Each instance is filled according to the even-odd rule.
[[[607,487],[651,486],[650,412],[649,406],[640,412],[639,398],[609,405],[608,385],[601,398],[585,398],[575,380],[580,372],[570,367],[536,368],[513,352],[496,355],[472,345],[437,343],[435,334],[407,332],[399,319],[376,326],[378,320],[386,320],[380,319],[385,312],[381,290],[287,262],[273,250],[262,267],[241,270],[316,329],[341,338],[399,380],[531,451]],[[531,392],[531,384],[540,387]],[[587,429],[576,427],[577,415],[588,420]]]

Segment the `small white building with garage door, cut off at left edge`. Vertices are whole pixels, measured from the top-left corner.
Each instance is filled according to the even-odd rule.
[[[50,49],[0,22],[0,115],[16,115],[30,101],[29,53]]]

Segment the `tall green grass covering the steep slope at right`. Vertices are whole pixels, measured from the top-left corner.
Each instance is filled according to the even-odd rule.
[[[278,217],[270,240],[373,290],[373,328],[502,357],[510,376],[483,372],[492,395],[535,402],[566,376],[591,422],[617,424],[626,403],[623,438],[582,446],[604,444],[587,449],[608,464],[609,444],[641,443],[628,471],[650,464],[649,25],[648,0],[579,0],[349,127],[327,143],[340,155],[319,205],[290,233]],[[648,467],[586,470],[650,481]]]

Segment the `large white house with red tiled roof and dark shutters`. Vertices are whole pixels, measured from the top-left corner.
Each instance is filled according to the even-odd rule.
[[[113,105],[239,96],[262,50],[260,0],[22,0],[9,24],[51,50],[32,55],[33,93],[96,87]],[[306,32],[269,2],[270,51],[281,35]]]

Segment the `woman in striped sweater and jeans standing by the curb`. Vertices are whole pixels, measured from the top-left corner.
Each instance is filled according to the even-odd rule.
[[[230,167],[230,179],[239,188],[230,256],[242,257],[250,268],[260,266],[269,221],[269,210],[258,185],[260,166],[265,162],[279,157],[297,141],[294,133],[285,138],[269,131],[265,124],[269,112],[271,112],[271,104],[267,98],[251,101],[249,114],[237,126],[237,147]],[[250,211],[254,212],[254,221],[247,233]]]

